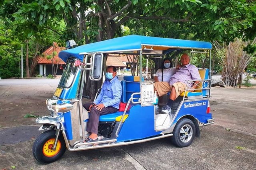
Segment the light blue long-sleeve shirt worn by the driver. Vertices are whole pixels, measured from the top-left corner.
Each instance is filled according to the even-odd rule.
[[[112,80],[106,79],[102,85],[100,94],[95,100],[95,104],[104,104],[105,107],[112,106],[119,109],[122,95],[122,86],[115,76]]]

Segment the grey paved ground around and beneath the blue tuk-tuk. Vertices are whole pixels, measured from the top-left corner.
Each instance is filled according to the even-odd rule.
[[[58,79],[0,80],[0,169],[18,170],[256,170],[256,89],[212,88],[211,111],[216,123],[201,128],[192,145],[177,148],[168,138],[146,143],[79,152],[66,151],[51,164],[39,164],[32,155],[38,125],[48,114]],[[5,133],[4,133],[5,132]],[[8,133],[6,133],[8,132]],[[5,141],[7,136],[12,141]],[[28,141],[20,140],[26,137]],[[12,144],[4,144],[12,142]]]

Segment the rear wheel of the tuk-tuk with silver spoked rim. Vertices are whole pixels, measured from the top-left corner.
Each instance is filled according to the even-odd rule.
[[[187,147],[194,140],[196,127],[190,119],[184,118],[178,121],[174,127],[172,143],[178,147]]]

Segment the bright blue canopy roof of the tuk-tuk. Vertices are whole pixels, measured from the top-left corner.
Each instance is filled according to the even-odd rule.
[[[83,61],[85,54],[96,52],[138,54],[138,51],[142,50],[142,52],[145,51],[145,54],[166,55],[174,49],[210,50],[212,44],[205,41],[127,35],[60,51],[59,57],[64,62],[70,57],[76,57]]]

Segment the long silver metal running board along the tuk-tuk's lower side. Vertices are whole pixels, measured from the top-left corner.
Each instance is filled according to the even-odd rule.
[[[88,142],[88,143],[81,142],[74,145],[74,148],[68,148],[68,150],[77,151],[77,150],[89,150],[89,149],[98,149],[98,148],[106,148],[106,147],[117,147],[122,145],[130,145],[135,143],[152,141],[152,140],[161,139],[161,138],[170,137],[170,136],[173,136],[173,134],[172,133],[167,135],[162,134],[161,136],[157,136],[157,137],[136,140],[136,141],[129,141],[129,142],[119,142],[119,143],[115,143],[117,141],[116,139],[100,140],[100,141]]]

